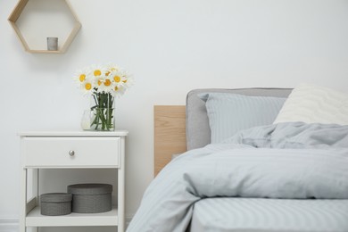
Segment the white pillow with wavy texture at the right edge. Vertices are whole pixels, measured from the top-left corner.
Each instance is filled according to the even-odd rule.
[[[348,125],[348,95],[328,87],[295,87],[273,124],[288,121]]]

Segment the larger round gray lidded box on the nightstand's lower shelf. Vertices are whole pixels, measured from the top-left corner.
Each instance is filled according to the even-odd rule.
[[[72,195],[72,211],[95,213],[112,210],[112,185],[78,184],[68,186]]]

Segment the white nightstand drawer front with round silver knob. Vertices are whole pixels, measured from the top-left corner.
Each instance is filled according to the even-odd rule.
[[[118,167],[120,137],[25,137],[24,167]]]

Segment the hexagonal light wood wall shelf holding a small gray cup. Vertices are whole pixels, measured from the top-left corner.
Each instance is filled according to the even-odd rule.
[[[12,28],[24,49],[33,54],[62,54],[81,28],[68,0],[20,0],[10,14]],[[58,38],[48,50],[47,38]]]

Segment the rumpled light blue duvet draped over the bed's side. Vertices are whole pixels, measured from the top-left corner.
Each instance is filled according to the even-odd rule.
[[[207,197],[348,199],[347,145],[348,126],[295,122],[191,150],[153,179],[128,232],[185,231]]]

